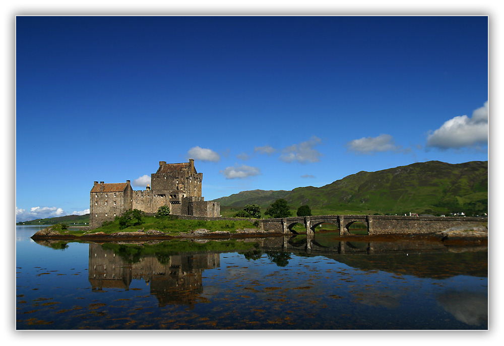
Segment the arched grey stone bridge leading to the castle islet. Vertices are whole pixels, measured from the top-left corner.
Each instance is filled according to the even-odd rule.
[[[488,218],[476,217],[435,217],[435,216],[390,216],[390,215],[320,215],[283,219],[261,219],[262,230],[290,234],[296,224],[306,228],[307,235],[313,235],[315,228],[323,223],[336,225],[340,235],[349,235],[350,225],[362,223],[368,235],[379,234],[419,234],[444,231],[455,226],[488,222]]]

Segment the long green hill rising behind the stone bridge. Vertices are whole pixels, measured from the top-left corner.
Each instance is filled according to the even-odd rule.
[[[215,201],[222,206],[256,203],[267,207],[278,198],[285,198],[292,209],[308,204],[319,215],[478,215],[488,213],[488,162],[429,161],[377,172],[362,171],[322,187],[242,191]]]

